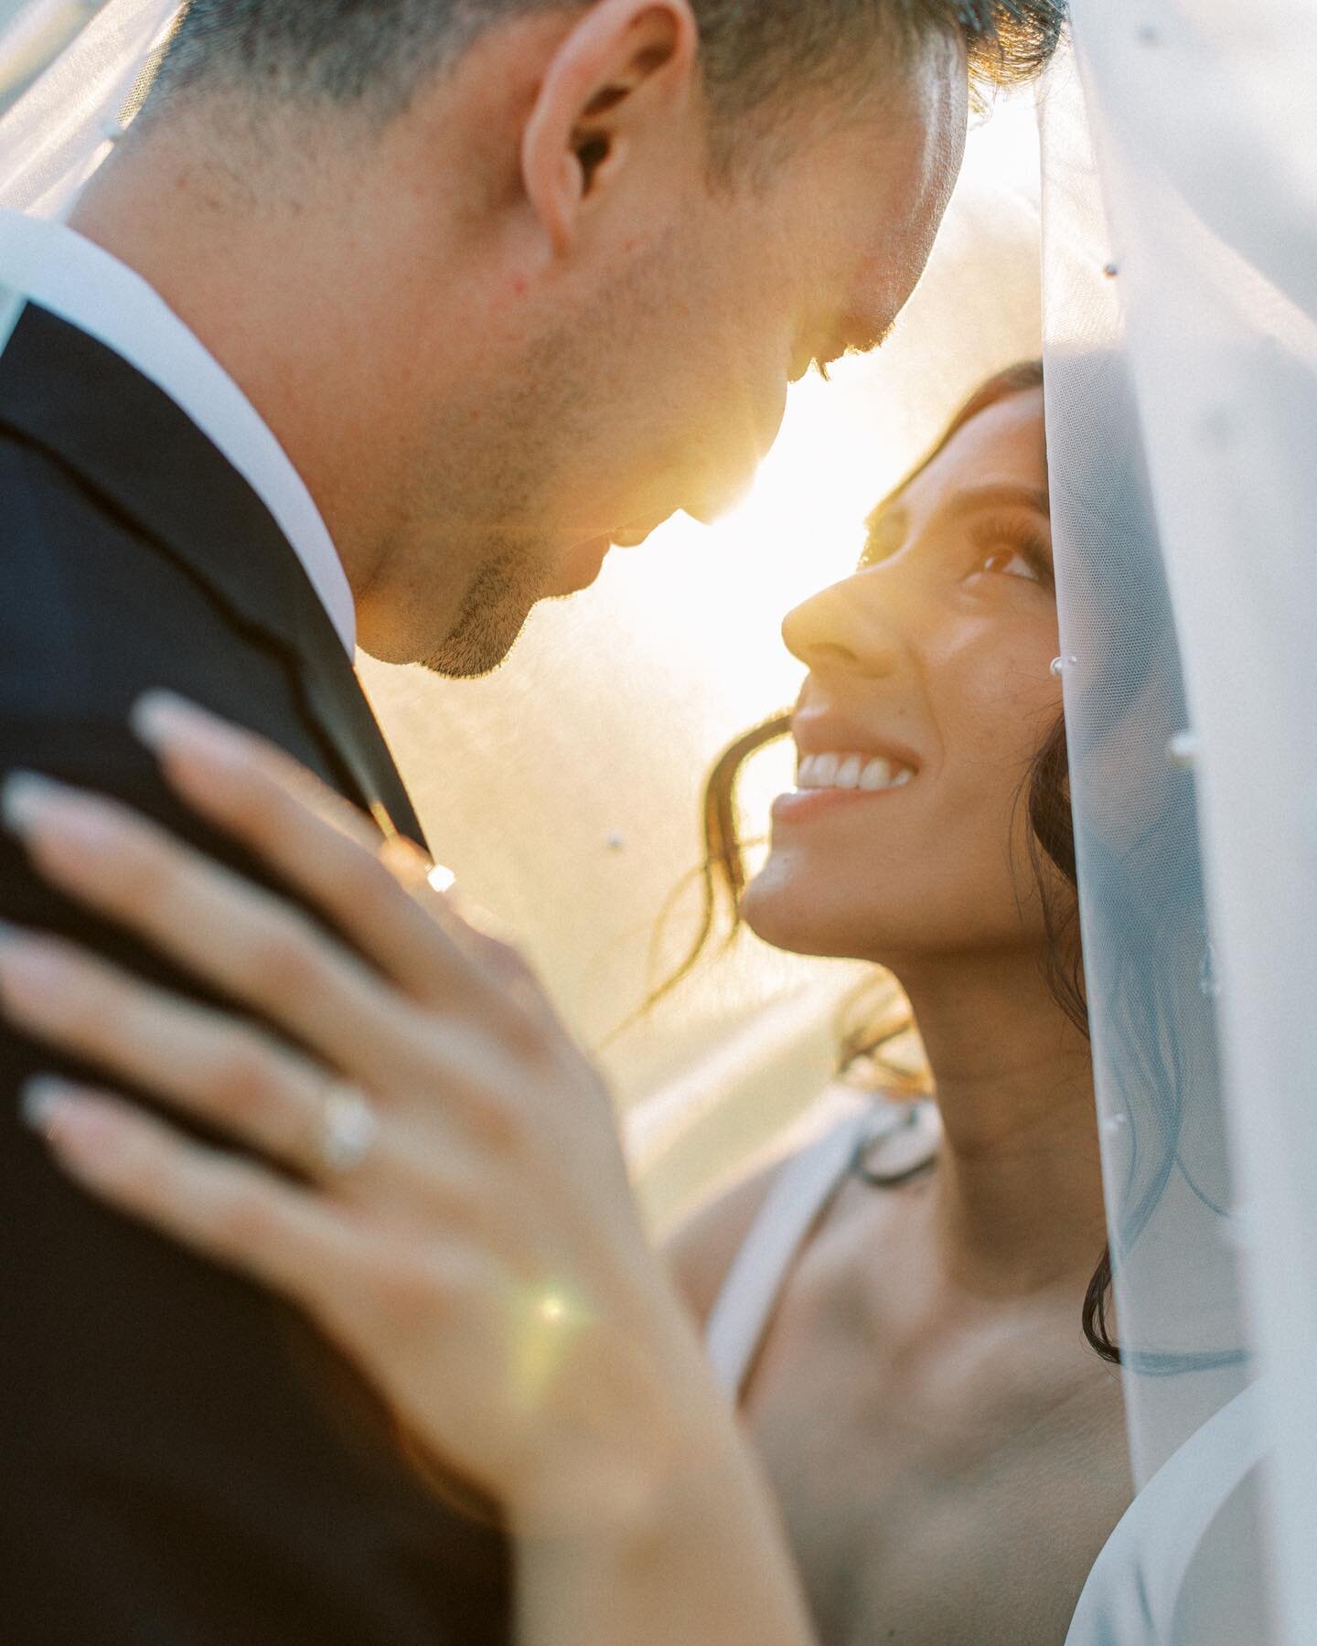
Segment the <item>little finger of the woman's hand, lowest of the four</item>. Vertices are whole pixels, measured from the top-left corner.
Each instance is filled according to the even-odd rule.
[[[362,1261],[351,1221],[273,1172],[69,1081],[30,1081],[23,1116],[84,1188],[193,1251],[313,1310],[326,1276],[351,1289]]]

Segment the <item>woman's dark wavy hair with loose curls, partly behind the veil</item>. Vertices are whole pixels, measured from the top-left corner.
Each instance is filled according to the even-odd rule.
[[[1110,364],[1110,362],[1108,362]],[[891,494],[899,495],[915,476],[940,456],[952,439],[989,407],[1019,393],[1044,387],[1044,369],[1039,360],[1011,365],[981,384],[960,407],[937,444]],[[1100,385],[1095,384],[1095,388]],[[1083,760],[1096,752],[1101,736],[1139,714],[1141,721],[1156,721],[1157,728],[1184,726],[1184,701],[1179,686],[1179,665],[1174,629],[1169,619],[1169,601],[1161,581],[1161,566],[1149,543],[1149,515],[1142,512],[1138,476],[1121,477],[1118,484],[1096,489],[1091,499],[1083,497],[1083,482],[1070,497],[1072,505],[1088,509],[1093,553],[1106,561],[1106,581],[1123,591],[1119,612],[1108,612],[1108,632],[1116,639],[1121,658],[1139,658],[1131,668],[1113,668],[1111,683],[1105,683],[1103,713],[1088,726],[1087,747],[1078,747],[1067,737],[1063,718],[1049,728],[1021,785],[1021,805],[1029,820],[1029,858],[1042,902],[1044,930],[1047,937],[1045,974],[1057,1006],[1085,1037],[1090,1035],[1088,989],[1101,989],[1106,1009],[1115,1014],[1124,1042],[1134,1049],[1129,1076],[1138,1090],[1123,1093],[1134,1132],[1131,1149],[1129,1182],[1124,1185],[1128,1208],[1124,1225],[1118,1231],[1121,1249],[1133,1244],[1146,1226],[1170,1175],[1184,1170],[1190,1188],[1212,1205],[1184,1169],[1180,1159],[1180,1131],[1185,1116],[1185,1096],[1190,1067],[1203,1055],[1215,1060],[1215,1024],[1210,1002],[1197,989],[1185,991],[1170,965],[1174,955],[1192,955],[1192,945],[1202,945],[1202,915],[1198,889],[1202,871],[1197,861],[1197,830],[1192,825],[1194,793],[1187,774],[1167,774],[1162,790],[1151,807],[1147,820],[1134,831],[1133,839],[1103,839],[1093,831],[1085,836],[1083,856],[1090,864],[1116,867],[1142,895],[1131,897],[1128,907],[1115,912],[1119,940],[1103,945],[1100,973],[1085,968],[1078,925],[1078,869],[1075,815],[1070,803],[1072,759]],[[1119,574],[1111,576],[1113,556]],[[1149,681],[1156,708],[1147,709]],[[1105,716],[1105,718],[1103,718]],[[746,764],[757,751],[790,732],[790,714],[775,714],[761,726],[738,737],[718,759],[710,774],[703,800],[705,863],[703,912],[700,927],[683,961],[673,969],[657,994],[667,993],[688,976],[701,958],[714,946],[719,923],[726,917],[726,943],[741,928],[741,900],[747,886],[746,846],[738,820],[738,783]],[[1175,861],[1167,861],[1174,853]],[[1182,861],[1184,859],[1184,861]],[[1166,892],[1159,892],[1166,887]],[[1151,895],[1147,894],[1151,889]],[[886,1050],[914,1029],[909,1007],[877,1019],[869,1016],[843,1034],[843,1070],[849,1072],[868,1062],[881,1076],[889,1073]],[[1207,1049],[1197,1055],[1187,1049]],[[910,1090],[909,1072],[897,1067],[896,1085]],[[1210,1073],[1210,1070],[1208,1070]],[[886,1081],[884,1078],[884,1083]],[[1151,1134],[1151,1136],[1149,1136]],[[1133,1363],[1141,1371],[1172,1373],[1203,1369],[1230,1363],[1236,1355],[1184,1356],[1184,1355],[1126,1355],[1121,1353],[1110,1328],[1111,1297],[1111,1246],[1108,1244],[1093,1272],[1083,1299],[1083,1335],[1091,1348],[1106,1361]]]

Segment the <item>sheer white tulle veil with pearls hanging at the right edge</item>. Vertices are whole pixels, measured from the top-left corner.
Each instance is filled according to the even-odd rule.
[[[1273,1618],[1256,1638],[1294,1643],[1317,1639],[1312,23],[1287,0],[1073,0],[1077,63],[1042,97],[1054,537],[1131,1455],[1142,1485],[1259,1379],[1264,1511],[1197,1562],[1187,1606],[1235,1615],[1253,1587]]]

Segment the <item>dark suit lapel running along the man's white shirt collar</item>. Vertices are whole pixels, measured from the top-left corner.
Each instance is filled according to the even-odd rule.
[[[163,390],[30,305],[0,360],[0,426],[44,448],[293,660],[308,713],[387,831],[420,823],[295,550],[247,481]]]

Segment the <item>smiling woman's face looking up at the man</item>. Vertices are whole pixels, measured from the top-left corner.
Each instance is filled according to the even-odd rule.
[[[1021,785],[1062,708],[1042,392],[975,416],[784,634],[810,667],[800,765],[749,925],[896,966],[1039,945]]]

